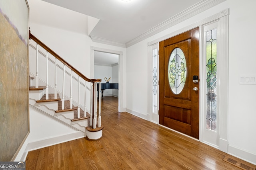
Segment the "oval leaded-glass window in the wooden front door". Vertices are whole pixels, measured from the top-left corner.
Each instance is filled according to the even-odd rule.
[[[180,94],[183,90],[187,76],[187,65],[183,51],[175,48],[170,54],[168,63],[168,80],[174,94]]]

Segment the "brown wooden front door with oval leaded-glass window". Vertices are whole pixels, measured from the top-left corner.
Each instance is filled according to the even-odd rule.
[[[160,125],[199,139],[199,28],[159,43],[159,81]]]

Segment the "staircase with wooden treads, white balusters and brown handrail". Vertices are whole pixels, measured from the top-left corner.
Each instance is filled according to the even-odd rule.
[[[29,51],[29,104],[82,131],[88,140],[100,139],[104,126],[95,87],[101,80],[84,76],[31,33]]]

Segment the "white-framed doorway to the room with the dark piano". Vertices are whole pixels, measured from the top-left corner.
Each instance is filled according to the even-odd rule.
[[[113,51],[97,47],[91,47],[91,78],[99,78],[107,86],[103,91],[104,96],[114,96],[118,98],[118,111],[123,112],[123,65],[122,51]],[[107,83],[108,82],[108,83]],[[99,93],[102,95],[102,93]]]

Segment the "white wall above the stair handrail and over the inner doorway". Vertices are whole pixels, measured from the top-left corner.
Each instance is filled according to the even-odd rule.
[[[87,35],[88,16],[41,0],[28,0],[30,30],[60,57],[91,78],[91,47],[122,51],[125,48],[94,43]]]

